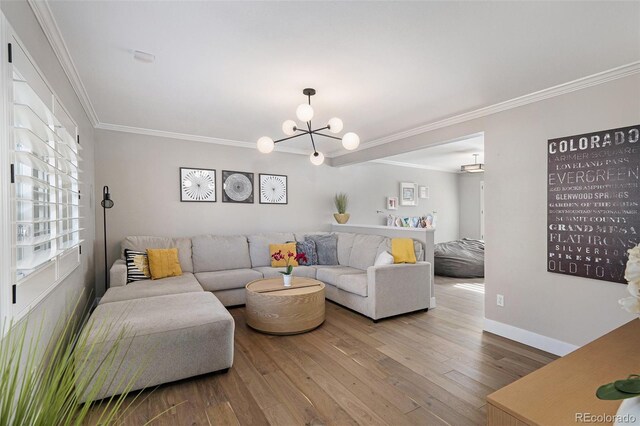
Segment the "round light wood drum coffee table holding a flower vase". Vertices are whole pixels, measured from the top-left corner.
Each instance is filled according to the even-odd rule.
[[[270,334],[297,334],[324,322],[324,283],[293,277],[291,287],[282,278],[251,281],[246,286],[247,324]]]

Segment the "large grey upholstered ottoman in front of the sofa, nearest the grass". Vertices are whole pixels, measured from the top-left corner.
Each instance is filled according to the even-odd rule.
[[[96,394],[79,397],[98,400],[126,387],[133,391],[227,370],[234,329],[231,314],[205,291],[102,303],[82,331],[86,345],[75,362],[78,381],[106,380]]]

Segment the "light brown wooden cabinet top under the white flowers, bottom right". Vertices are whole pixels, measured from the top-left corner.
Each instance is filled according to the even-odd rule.
[[[629,374],[640,374],[639,319],[489,395],[487,424],[610,425],[621,401],[599,400],[596,389]]]

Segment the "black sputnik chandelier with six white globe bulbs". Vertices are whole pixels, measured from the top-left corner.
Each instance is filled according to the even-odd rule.
[[[326,126],[313,130],[313,128],[311,127],[311,119],[313,118],[311,96],[316,94],[316,90],[307,88],[302,91],[302,94],[307,97],[308,101],[306,104],[298,105],[298,108],[296,109],[296,117],[298,117],[298,120],[305,123],[303,126],[306,126],[306,129],[301,129],[300,127],[298,127],[298,123],[293,120],[287,120],[282,123],[282,131],[288,137],[274,141],[268,136],[263,136],[258,139],[258,151],[262,152],[263,154],[268,154],[273,151],[275,144],[279,142],[284,142],[289,139],[295,139],[300,136],[309,135],[309,137],[311,138],[311,146],[313,147],[313,152],[309,156],[309,159],[313,164],[319,166],[320,164],[324,163],[324,154],[316,149],[316,142],[313,139],[314,135],[342,140],[342,146],[344,146],[349,151],[356,149],[358,145],[360,145],[360,137],[353,132],[345,133],[342,138],[327,135],[326,133],[321,133],[323,130],[328,130],[333,134],[340,133],[342,131],[343,124],[342,120],[337,117],[333,117],[332,119],[330,119]]]

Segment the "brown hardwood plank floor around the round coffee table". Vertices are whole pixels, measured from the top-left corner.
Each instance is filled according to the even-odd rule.
[[[436,309],[378,323],[326,302],[325,323],[295,336],[233,308],[229,372],[144,392],[123,424],[168,410],[152,424],[483,425],[487,394],[556,357],[483,333],[482,283],[436,277]]]

